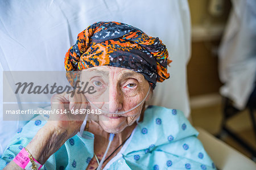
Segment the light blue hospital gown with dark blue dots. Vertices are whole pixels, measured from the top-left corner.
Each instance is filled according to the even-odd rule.
[[[46,124],[45,118],[36,116],[18,130],[3,152],[0,169],[28,145]],[[144,112],[143,122],[138,123],[121,151],[104,169],[216,169],[197,135],[182,112],[150,106]],[[94,135],[88,131],[82,137],[75,135],[50,156],[42,169],[86,169],[93,158],[93,143]]]

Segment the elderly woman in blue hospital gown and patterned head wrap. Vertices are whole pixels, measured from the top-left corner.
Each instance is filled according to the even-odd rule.
[[[51,107],[90,108],[101,114],[77,115],[71,121],[64,121],[65,116],[55,121],[36,116],[18,131],[0,167],[215,169],[183,113],[145,107],[156,82],[169,78],[167,58],[162,41],[138,28],[117,22],[90,25],[68,50],[65,68],[89,73],[79,79],[89,80],[96,92],[54,95]],[[74,75],[67,76],[71,84]]]

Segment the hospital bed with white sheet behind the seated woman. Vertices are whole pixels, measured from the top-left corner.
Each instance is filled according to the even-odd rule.
[[[168,68],[171,77],[157,84],[151,104],[180,109],[185,116],[189,116],[186,67],[191,51],[191,25],[186,0],[147,0],[136,3],[124,0],[10,0],[0,3],[1,80],[3,71],[64,71],[65,53],[75,44],[77,33],[95,22],[118,21],[134,25],[148,35],[158,36],[166,44],[173,60]],[[3,95],[2,86],[0,81],[0,96]],[[0,102],[1,112],[2,97]],[[0,154],[16,131],[26,123],[2,119],[1,113]],[[226,169],[232,164],[254,166],[230,147],[218,151],[215,148],[227,146],[206,131],[199,131],[199,138],[218,168]],[[224,151],[227,151],[227,157],[216,159],[216,155],[225,156]],[[237,158],[240,160],[230,160],[230,153],[239,155]]]

